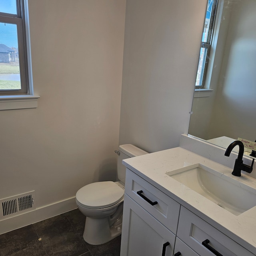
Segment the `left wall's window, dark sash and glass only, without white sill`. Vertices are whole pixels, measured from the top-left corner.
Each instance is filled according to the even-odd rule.
[[[1,0],[0,94],[31,94],[24,0]]]

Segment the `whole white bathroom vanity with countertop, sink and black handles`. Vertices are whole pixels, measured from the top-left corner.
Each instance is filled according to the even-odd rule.
[[[256,255],[256,179],[188,147],[123,161],[121,256]]]

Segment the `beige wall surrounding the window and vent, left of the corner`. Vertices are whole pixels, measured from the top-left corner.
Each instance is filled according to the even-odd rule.
[[[29,15],[40,99],[0,111],[0,198],[35,190],[37,208],[75,206],[80,187],[116,179],[125,0],[29,0]],[[0,222],[1,232],[14,222]]]

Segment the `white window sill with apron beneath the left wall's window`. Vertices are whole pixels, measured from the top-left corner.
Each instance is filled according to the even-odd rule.
[[[39,98],[34,95],[1,95],[0,110],[37,108]]]

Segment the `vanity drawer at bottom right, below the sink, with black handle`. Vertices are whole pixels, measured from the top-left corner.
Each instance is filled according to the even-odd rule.
[[[177,236],[201,256],[215,255],[202,245],[203,241],[223,256],[254,256],[183,206],[180,209]]]

